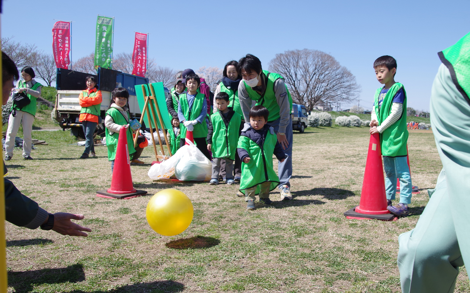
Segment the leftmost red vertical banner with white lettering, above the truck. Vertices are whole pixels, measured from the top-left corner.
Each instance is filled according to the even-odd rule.
[[[56,22],[52,28],[52,52],[57,68],[69,69],[71,36],[70,23]]]

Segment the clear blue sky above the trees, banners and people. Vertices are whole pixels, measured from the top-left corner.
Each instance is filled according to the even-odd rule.
[[[72,20],[72,60],[77,60],[94,51],[97,14],[114,16],[115,54],[132,53],[134,31],[149,32],[149,58],[178,70],[222,68],[246,53],[256,55],[267,69],[276,53],[316,49],[356,76],[360,105],[366,109],[380,86],[372,64],[391,55],[397,59],[395,80],[405,85],[408,106],[428,110],[440,64],[437,53],[470,31],[469,6],[468,0],[4,0],[1,36],[15,36],[52,53],[53,19]]]

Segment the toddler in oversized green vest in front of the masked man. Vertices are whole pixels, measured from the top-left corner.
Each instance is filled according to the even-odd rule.
[[[245,123],[238,139],[237,151],[242,160],[240,192],[245,195],[246,209],[254,210],[257,194],[261,203],[273,203],[269,199],[269,191],[279,185],[279,178],[273,169],[273,154],[279,162],[285,160],[286,154],[277,141],[274,128],[266,123],[269,117],[266,107],[252,107],[249,117],[250,123]]]

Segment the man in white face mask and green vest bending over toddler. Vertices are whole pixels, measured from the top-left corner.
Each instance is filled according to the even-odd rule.
[[[281,200],[290,200],[290,177],[292,176],[292,98],[284,78],[261,68],[261,61],[251,54],[238,61],[238,72],[243,82],[238,85],[238,98],[245,121],[249,121],[252,101],[263,105],[269,111],[267,123],[274,128],[277,140],[287,158],[278,162],[279,189]]]

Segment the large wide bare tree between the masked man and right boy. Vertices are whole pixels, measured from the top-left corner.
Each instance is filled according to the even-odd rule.
[[[320,103],[353,101],[360,92],[354,75],[333,56],[318,50],[276,54],[269,70],[284,77],[292,99],[308,111]]]

